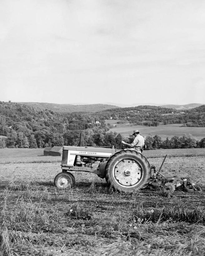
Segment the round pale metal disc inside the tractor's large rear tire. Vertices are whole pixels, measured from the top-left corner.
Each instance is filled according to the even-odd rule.
[[[134,186],[142,176],[142,168],[133,159],[123,159],[116,163],[114,167],[116,181],[121,186]]]

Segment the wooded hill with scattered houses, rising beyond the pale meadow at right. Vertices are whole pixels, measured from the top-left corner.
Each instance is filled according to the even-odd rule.
[[[115,108],[97,112],[96,115],[105,119],[125,120],[137,125],[157,126],[181,123],[183,126],[205,127],[205,105],[183,112],[157,106]]]

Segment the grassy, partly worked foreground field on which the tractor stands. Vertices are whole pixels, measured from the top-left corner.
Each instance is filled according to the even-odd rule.
[[[0,255],[204,255],[205,154],[166,151],[162,168],[190,175],[202,192],[120,194],[82,172],[72,172],[73,188],[56,189],[60,158],[42,152],[0,150]],[[159,168],[157,152],[144,153]]]

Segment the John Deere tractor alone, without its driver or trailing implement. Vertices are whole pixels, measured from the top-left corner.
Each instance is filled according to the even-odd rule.
[[[66,188],[75,182],[68,171],[83,171],[105,178],[108,185],[119,192],[146,188],[151,174],[147,159],[133,150],[93,147],[63,147],[62,172],[54,179],[58,188]]]

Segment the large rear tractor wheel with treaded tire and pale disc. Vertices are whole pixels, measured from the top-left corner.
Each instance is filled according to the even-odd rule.
[[[132,192],[147,187],[151,177],[148,160],[134,150],[122,150],[111,156],[105,167],[105,179],[115,191]]]

